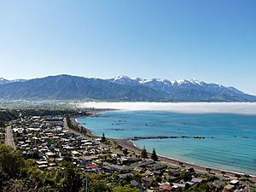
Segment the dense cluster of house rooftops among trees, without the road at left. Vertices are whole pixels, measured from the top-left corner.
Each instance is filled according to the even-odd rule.
[[[63,160],[72,160],[83,172],[118,174],[119,179],[141,190],[183,191],[205,183],[212,189],[248,191],[240,180],[144,160],[140,154],[121,148],[113,141],[103,143],[102,138],[83,136],[67,127],[66,119],[59,116],[26,117],[9,125],[14,131],[17,149],[26,159],[34,159],[42,171],[58,169]]]

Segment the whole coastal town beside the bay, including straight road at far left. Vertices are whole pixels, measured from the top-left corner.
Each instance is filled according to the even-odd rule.
[[[0,136],[2,143],[20,151],[41,172],[61,169],[70,160],[86,177],[106,176],[107,186],[129,185],[129,191],[256,191],[255,177],[153,157],[143,153],[145,149],[127,147],[131,141],[111,139],[104,133],[93,136],[74,116],[20,116],[7,122]],[[86,183],[82,191],[96,191],[90,189],[92,184],[93,180]]]

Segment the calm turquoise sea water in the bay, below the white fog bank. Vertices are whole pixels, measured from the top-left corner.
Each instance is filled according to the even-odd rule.
[[[101,117],[80,118],[95,135],[130,138],[190,136],[139,140],[135,144],[157,154],[201,166],[256,175],[256,116],[224,113],[111,111]]]

